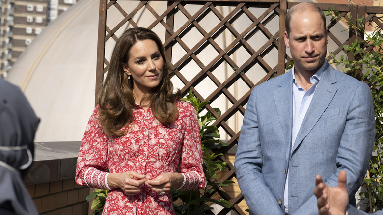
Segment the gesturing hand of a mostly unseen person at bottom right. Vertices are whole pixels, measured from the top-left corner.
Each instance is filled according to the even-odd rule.
[[[338,186],[330,187],[326,185],[322,177],[317,175],[315,180],[314,194],[318,199],[318,213],[320,215],[383,215],[382,211],[367,214],[358,211],[354,206],[349,205],[349,195],[347,194],[346,172],[341,171],[338,175]]]

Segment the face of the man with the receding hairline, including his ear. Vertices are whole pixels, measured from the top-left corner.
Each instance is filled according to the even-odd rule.
[[[294,59],[294,70],[314,74],[326,58],[328,31],[317,12],[295,12],[290,21],[290,33],[285,31],[286,47]]]

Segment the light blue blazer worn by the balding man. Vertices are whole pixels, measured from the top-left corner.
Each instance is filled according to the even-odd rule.
[[[326,64],[291,155],[292,71],[253,89],[234,163],[250,214],[284,214],[286,170],[289,215],[318,214],[317,174],[336,187],[345,170],[355,200],[374,145],[372,96],[367,84]]]

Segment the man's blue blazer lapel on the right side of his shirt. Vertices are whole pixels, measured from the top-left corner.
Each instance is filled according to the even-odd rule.
[[[307,109],[306,116],[303,119],[301,128],[293,146],[293,152],[318,122],[319,118],[334,98],[337,91],[336,86],[333,85],[334,83],[336,83],[335,71],[328,64],[321,80],[318,82],[314,97],[312,98],[310,106]]]

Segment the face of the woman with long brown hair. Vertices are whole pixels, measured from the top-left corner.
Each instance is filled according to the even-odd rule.
[[[128,64],[123,69],[133,79],[133,90],[146,94],[162,79],[164,60],[153,40],[139,40],[129,50]]]

